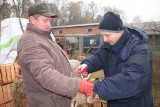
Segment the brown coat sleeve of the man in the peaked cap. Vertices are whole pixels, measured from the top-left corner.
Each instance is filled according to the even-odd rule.
[[[55,53],[53,52],[52,54]],[[27,71],[30,71],[35,81],[44,89],[68,97],[73,97],[77,94],[80,80],[65,76],[57,71],[55,67],[56,60],[50,57],[47,47],[44,45],[29,41],[20,50],[19,59],[28,68]]]

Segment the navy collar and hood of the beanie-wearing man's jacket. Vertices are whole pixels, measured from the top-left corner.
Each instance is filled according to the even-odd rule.
[[[115,45],[104,43],[103,48],[111,53],[117,54],[120,60],[126,60],[135,45],[148,42],[148,36],[145,32],[136,28],[124,28],[124,34]]]

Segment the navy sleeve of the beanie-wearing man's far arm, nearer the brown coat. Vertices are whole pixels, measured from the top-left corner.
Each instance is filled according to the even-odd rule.
[[[104,55],[103,55],[104,54]],[[106,56],[107,52],[103,50],[103,47],[101,46],[93,55],[91,55],[88,59],[85,59],[82,61],[81,64],[87,64],[88,65],[88,73],[92,73],[95,71],[101,70],[103,67],[103,61]],[[104,57],[102,57],[104,56]]]

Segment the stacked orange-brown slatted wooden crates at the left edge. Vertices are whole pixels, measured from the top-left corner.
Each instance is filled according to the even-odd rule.
[[[18,63],[0,65],[0,107],[15,107],[12,101],[12,85],[20,74]]]

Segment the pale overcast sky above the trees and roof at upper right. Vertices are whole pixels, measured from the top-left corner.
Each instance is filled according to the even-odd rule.
[[[80,0],[69,0],[80,1]],[[132,21],[135,16],[140,16],[143,21],[160,21],[160,0],[82,0],[94,1],[99,6],[115,7],[123,10],[127,20]]]

